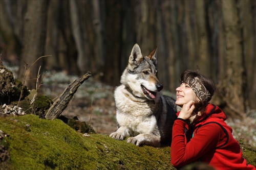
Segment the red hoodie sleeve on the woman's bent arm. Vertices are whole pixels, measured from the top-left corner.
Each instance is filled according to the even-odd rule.
[[[185,125],[183,120],[176,119],[173,126],[170,162],[175,167],[198,160],[205,153],[216,148],[221,136],[221,128],[216,124],[209,124],[199,128],[197,134],[186,143]]]

